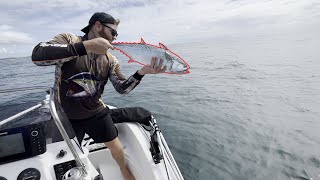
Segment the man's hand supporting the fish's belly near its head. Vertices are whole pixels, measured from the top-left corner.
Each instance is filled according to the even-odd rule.
[[[151,59],[151,64],[143,66],[139,71],[138,74],[141,76],[145,74],[158,74],[158,73],[163,73],[167,70],[166,66],[163,65],[163,59],[160,58],[160,63],[158,65],[158,57],[153,57]]]

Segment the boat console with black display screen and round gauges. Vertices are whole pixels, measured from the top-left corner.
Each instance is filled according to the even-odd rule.
[[[64,140],[46,103],[8,119],[0,120],[0,180],[83,179],[76,178],[82,171],[74,154],[86,168],[84,179],[98,179],[89,151],[81,148],[72,128],[65,127],[69,142]]]

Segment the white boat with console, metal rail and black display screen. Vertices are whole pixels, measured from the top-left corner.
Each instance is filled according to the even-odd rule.
[[[0,180],[123,180],[109,149],[88,135],[78,141],[53,89],[47,93],[0,121]],[[116,127],[136,180],[183,180],[154,117],[150,126]]]

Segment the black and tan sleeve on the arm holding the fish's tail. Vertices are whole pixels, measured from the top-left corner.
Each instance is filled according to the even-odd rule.
[[[80,37],[72,33],[63,33],[48,42],[40,42],[34,47],[31,58],[36,65],[48,66],[64,63],[86,54]]]

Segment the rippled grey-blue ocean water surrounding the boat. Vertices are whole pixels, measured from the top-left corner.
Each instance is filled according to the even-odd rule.
[[[130,94],[109,82],[103,100],[153,112],[186,180],[320,179],[319,38],[221,38],[168,47],[187,75],[146,75]],[[124,74],[139,66],[119,57]],[[54,66],[0,59],[0,119],[44,99]]]

